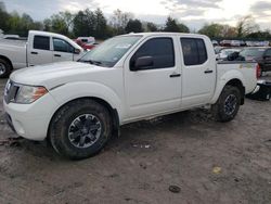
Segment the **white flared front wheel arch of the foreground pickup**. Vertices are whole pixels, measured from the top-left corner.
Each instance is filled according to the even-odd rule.
[[[122,104],[122,100],[113,89],[105,85],[92,81],[77,81],[54,87],[49,91],[57,103],[53,113],[69,101],[92,97],[106,101],[114,110],[116,110],[120,123],[124,118],[122,107],[125,105]],[[67,92],[70,94],[67,94]]]

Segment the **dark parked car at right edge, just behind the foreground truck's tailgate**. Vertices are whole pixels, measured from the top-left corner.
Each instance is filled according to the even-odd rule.
[[[271,71],[270,47],[245,48],[240,52],[240,55],[244,56],[246,60],[255,60],[258,62],[261,73]]]

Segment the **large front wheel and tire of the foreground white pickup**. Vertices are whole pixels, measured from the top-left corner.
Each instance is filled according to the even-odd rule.
[[[61,107],[51,120],[49,130],[54,150],[69,160],[95,155],[111,135],[108,110],[90,99],[72,101]]]

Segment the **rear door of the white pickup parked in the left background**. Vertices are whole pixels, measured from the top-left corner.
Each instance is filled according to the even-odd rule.
[[[34,36],[27,49],[28,66],[52,62],[49,36]]]

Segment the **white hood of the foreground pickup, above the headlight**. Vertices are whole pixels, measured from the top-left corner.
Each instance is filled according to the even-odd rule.
[[[98,73],[112,69],[81,62],[60,62],[22,68],[12,73],[10,79],[17,84],[44,86],[51,89],[66,82],[90,80]]]

